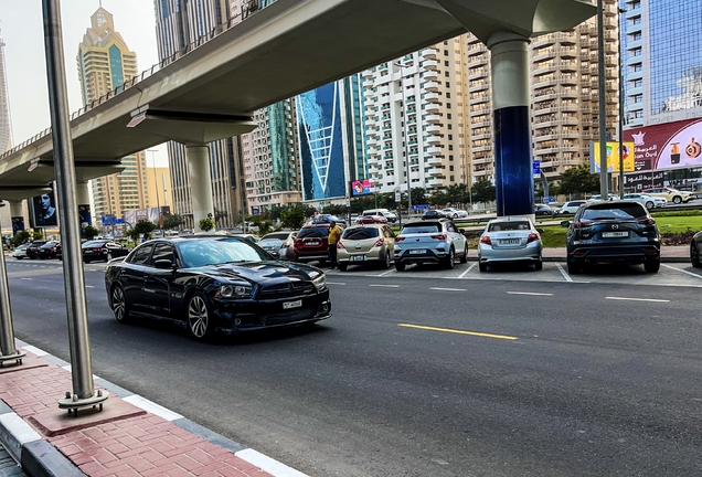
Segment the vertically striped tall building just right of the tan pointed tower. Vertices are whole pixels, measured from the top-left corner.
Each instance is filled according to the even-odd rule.
[[[212,31],[230,28],[241,21],[241,6],[228,0],[158,0],[156,31],[159,60],[177,57],[189,51],[189,45]],[[241,0],[240,0],[241,1]],[[221,139],[209,145],[212,170],[212,192],[219,227],[228,227],[242,221],[246,209],[242,145],[238,137]],[[171,211],[181,214],[187,225],[192,213],[192,194],[185,147],[168,142],[171,170]]]

